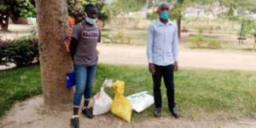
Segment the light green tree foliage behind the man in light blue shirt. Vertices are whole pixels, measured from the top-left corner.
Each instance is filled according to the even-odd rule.
[[[177,20],[179,35],[181,32],[181,20],[183,19],[183,15],[185,15],[186,9],[189,7],[205,7],[206,12],[218,15],[219,18],[228,20],[239,20],[239,16],[236,15],[236,13],[244,15],[246,12],[256,12],[255,0],[166,0],[166,2],[172,3],[173,9],[170,15],[170,19]],[[149,1],[149,3],[152,2]],[[218,12],[215,11],[216,8],[219,9]],[[153,14],[148,14],[148,19],[152,20],[156,17],[157,15],[155,12]]]

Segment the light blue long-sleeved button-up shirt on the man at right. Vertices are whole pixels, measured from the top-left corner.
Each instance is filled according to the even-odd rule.
[[[168,66],[177,61],[178,38],[177,25],[155,20],[148,27],[147,55],[148,63]]]

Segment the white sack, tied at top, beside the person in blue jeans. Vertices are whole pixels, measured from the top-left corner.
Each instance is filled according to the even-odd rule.
[[[105,87],[112,87],[113,80],[106,79],[103,84],[101,91],[94,96],[94,105],[93,105],[93,115],[100,115],[103,113],[108,113],[109,109],[112,105],[112,99],[108,94],[105,92]]]

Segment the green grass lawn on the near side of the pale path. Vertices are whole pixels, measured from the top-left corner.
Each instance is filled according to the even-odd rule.
[[[0,116],[15,101],[41,94],[39,67],[24,67],[0,72]],[[97,68],[94,94],[100,90],[104,79],[125,81],[125,96],[149,90],[152,80],[145,67],[111,66],[101,64]],[[180,114],[185,118],[237,118],[256,117],[256,73],[180,69],[175,74],[176,102]],[[113,91],[108,89],[113,96]],[[166,89],[162,85],[163,116],[169,116]],[[154,106],[133,113],[133,119],[153,117]]]

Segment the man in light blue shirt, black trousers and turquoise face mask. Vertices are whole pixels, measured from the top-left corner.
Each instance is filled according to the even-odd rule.
[[[148,69],[154,81],[154,115],[161,115],[161,78],[164,78],[168,107],[174,117],[177,118],[177,108],[174,100],[173,72],[177,71],[177,25],[169,20],[171,9],[163,3],[157,12],[160,15],[148,27]]]

